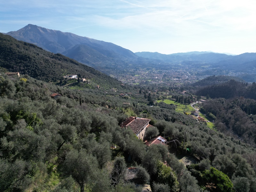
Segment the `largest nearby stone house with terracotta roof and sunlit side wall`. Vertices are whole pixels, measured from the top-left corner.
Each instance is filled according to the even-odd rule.
[[[149,124],[151,119],[144,119],[140,117],[128,117],[120,126],[132,129],[133,133],[138,139],[144,140],[145,131],[148,127],[153,127]]]

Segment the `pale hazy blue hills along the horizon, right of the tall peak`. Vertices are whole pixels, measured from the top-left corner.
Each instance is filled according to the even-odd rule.
[[[207,64],[209,68],[201,75],[213,75],[214,71],[233,71],[236,73],[256,73],[256,53],[243,53],[240,55],[226,55],[213,52],[188,52],[161,54],[158,52],[136,52],[136,55],[148,59],[157,59],[172,64],[179,63],[186,66],[200,68]],[[242,77],[242,74],[241,74]],[[248,81],[252,78],[248,79]]]

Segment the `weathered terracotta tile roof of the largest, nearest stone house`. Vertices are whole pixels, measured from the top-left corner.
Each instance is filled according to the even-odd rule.
[[[140,130],[148,124],[151,119],[144,119],[139,117],[129,117],[126,121],[124,121],[120,126],[121,127],[130,127],[134,134],[138,134]]]

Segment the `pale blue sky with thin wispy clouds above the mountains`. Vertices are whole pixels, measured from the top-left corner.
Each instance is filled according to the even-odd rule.
[[[0,1],[0,32],[28,24],[132,52],[256,52],[256,0]]]

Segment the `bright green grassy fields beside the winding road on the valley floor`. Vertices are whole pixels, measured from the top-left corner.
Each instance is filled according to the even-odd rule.
[[[157,100],[157,102],[161,102],[163,100]],[[191,107],[190,105],[183,105],[180,103],[177,103],[175,101],[169,100],[169,99],[165,99],[164,103],[166,104],[173,104],[176,106],[175,111],[179,112],[179,113],[184,113],[185,112],[190,112],[190,111],[194,111],[195,109],[193,107]],[[199,116],[203,117],[206,121],[209,121],[209,119],[207,119],[207,117],[205,115],[203,115],[202,113],[199,112]],[[214,129],[214,124],[212,122],[207,122],[207,126],[210,129]]]

